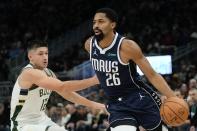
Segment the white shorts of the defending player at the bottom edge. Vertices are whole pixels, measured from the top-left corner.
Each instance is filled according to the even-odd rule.
[[[48,128],[53,127],[60,131],[66,131],[64,127],[60,127],[54,123],[51,119],[39,122],[38,124],[25,124],[23,126],[17,126],[18,131],[47,131]]]

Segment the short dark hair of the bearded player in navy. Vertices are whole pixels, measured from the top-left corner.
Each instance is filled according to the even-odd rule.
[[[105,13],[106,17],[112,22],[118,23],[118,14],[111,8],[101,8],[96,11],[96,13]]]

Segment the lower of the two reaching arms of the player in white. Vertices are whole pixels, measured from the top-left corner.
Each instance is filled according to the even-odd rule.
[[[58,92],[58,94],[60,94],[64,99],[70,102],[73,102],[79,105],[84,105],[84,106],[94,108],[94,109],[106,110],[104,104],[88,100],[87,98],[80,96],[76,92]]]

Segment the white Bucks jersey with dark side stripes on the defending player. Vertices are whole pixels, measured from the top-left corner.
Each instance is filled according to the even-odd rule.
[[[33,68],[28,64],[25,68]],[[54,73],[49,69],[44,69],[49,77],[54,77]],[[29,89],[21,89],[18,79],[14,85],[11,99],[11,122],[12,127],[18,125],[39,124],[49,119],[45,114],[51,90],[47,90],[37,85],[32,85]]]

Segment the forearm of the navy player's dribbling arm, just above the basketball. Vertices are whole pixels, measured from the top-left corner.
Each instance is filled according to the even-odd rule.
[[[157,88],[159,92],[161,92],[166,97],[175,96],[174,92],[170,89],[170,87],[161,75],[156,73],[149,79],[149,81],[153,84],[155,88]]]

